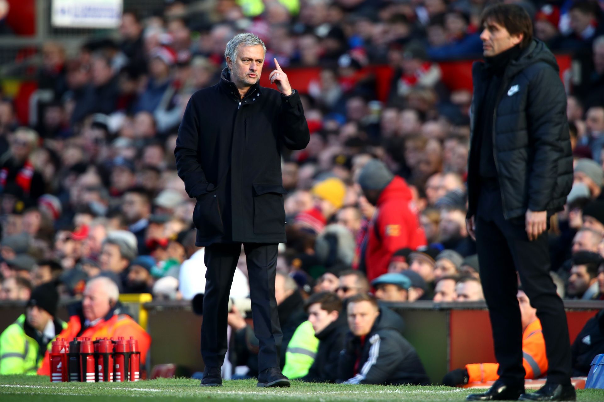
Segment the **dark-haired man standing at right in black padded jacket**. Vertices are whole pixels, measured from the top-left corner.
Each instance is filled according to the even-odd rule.
[[[484,63],[472,67],[467,228],[477,240],[500,379],[468,400],[574,400],[567,319],[551,280],[548,218],[573,181],[566,96],[553,54],[532,38],[518,5],[481,18]],[[547,349],[547,383],[524,394],[518,272],[537,309]]]

